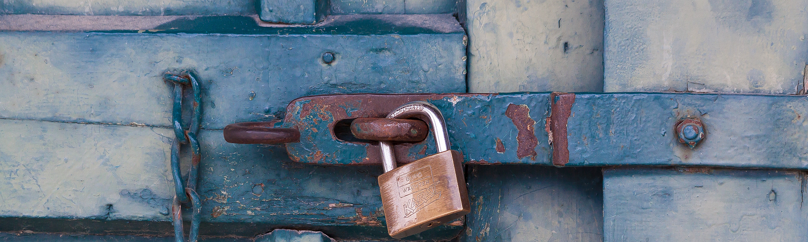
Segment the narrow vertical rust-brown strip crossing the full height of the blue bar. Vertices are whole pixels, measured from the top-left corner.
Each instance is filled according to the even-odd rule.
[[[575,94],[550,94],[549,136],[553,144],[553,165],[564,166],[570,162],[570,150],[567,148],[566,121],[570,119]],[[545,127],[546,129],[546,127]]]

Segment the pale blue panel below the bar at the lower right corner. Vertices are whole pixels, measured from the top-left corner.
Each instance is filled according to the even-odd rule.
[[[805,241],[806,173],[604,169],[604,241]]]

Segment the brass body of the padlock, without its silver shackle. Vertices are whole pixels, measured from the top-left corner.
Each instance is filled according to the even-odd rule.
[[[387,231],[401,239],[469,213],[463,156],[448,150],[379,176]]]

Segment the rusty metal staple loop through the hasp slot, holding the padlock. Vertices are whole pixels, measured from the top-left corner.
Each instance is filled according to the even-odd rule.
[[[360,118],[351,122],[351,133],[362,140],[418,142],[427,138],[427,123],[414,119]]]

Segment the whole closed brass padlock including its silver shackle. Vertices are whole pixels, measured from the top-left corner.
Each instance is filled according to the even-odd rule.
[[[438,153],[396,168],[393,144],[380,141],[385,173],[379,176],[387,232],[396,239],[423,232],[471,211],[463,177],[463,156],[449,150],[444,117],[429,102],[410,102],[389,119],[421,116],[435,132]]]

